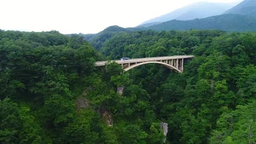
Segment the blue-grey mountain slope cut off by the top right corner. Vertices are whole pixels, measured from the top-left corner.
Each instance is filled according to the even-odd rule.
[[[256,16],[256,0],[244,0],[237,6],[227,10],[225,14],[227,13]]]

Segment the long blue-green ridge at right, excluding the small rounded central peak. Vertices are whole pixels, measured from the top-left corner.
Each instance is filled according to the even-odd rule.
[[[210,16],[202,19],[189,21],[172,20],[153,25],[147,29],[151,30],[207,30],[218,29],[224,31],[256,31],[256,18],[245,15],[225,14]]]

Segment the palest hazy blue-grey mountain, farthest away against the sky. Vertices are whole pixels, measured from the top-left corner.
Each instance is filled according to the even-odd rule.
[[[167,13],[157,18],[150,19],[149,21],[145,21],[138,27],[141,27],[144,24],[151,23],[152,25],[155,24],[153,22],[166,22],[173,19],[191,20],[195,18],[206,18],[208,16],[221,15],[223,12],[231,9],[235,5],[236,3],[193,3],[180,9],[174,10],[173,12]],[[147,25],[144,26],[147,27]]]

